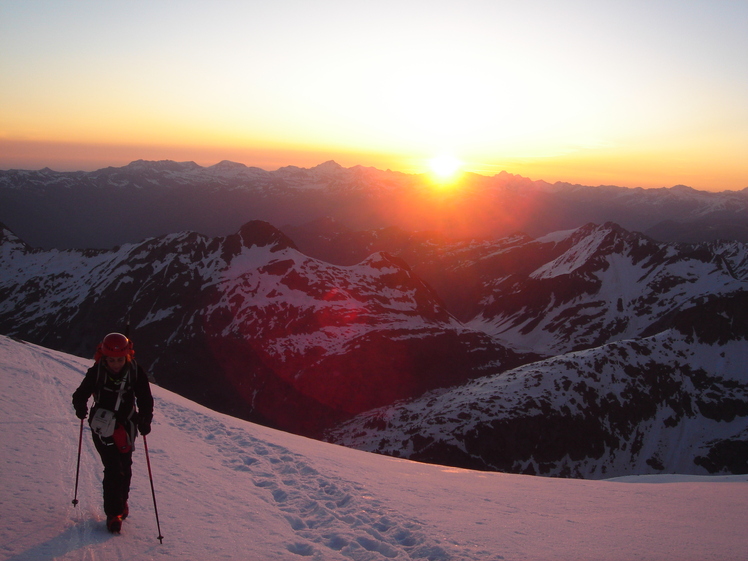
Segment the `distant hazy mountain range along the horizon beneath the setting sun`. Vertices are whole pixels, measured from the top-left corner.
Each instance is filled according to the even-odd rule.
[[[465,173],[445,188],[428,175],[332,161],[275,171],[228,161],[201,167],[142,160],[93,172],[0,171],[0,222],[47,249],[109,249],[186,230],[227,236],[264,220],[284,232],[297,229],[292,237],[306,251],[314,238],[302,236],[304,227],[324,219],[353,232],[395,227],[453,240],[539,237],[615,222],[660,241],[746,242],[748,188],[591,187],[507,172]]]

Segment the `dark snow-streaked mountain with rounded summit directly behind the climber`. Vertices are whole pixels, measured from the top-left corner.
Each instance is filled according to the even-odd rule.
[[[537,358],[462,325],[396,258],[330,265],[264,222],[109,251],[4,229],[0,252],[3,333],[87,356],[129,322],[165,387],[302,434]]]

